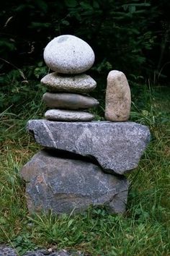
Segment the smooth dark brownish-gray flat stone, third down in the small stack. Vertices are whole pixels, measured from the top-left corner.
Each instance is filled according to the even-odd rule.
[[[42,101],[50,108],[85,109],[99,105],[99,101],[73,93],[45,93]]]

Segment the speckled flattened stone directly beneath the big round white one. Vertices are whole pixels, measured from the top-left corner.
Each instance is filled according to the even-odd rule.
[[[53,92],[89,93],[97,86],[97,82],[87,74],[62,76],[53,72],[45,75],[41,82]]]

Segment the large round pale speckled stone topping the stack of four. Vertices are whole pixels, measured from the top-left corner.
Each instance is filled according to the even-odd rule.
[[[74,35],[60,35],[48,43],[44,51],[47,66],[62,74],[80,74],[94,64],[94,51]]]

